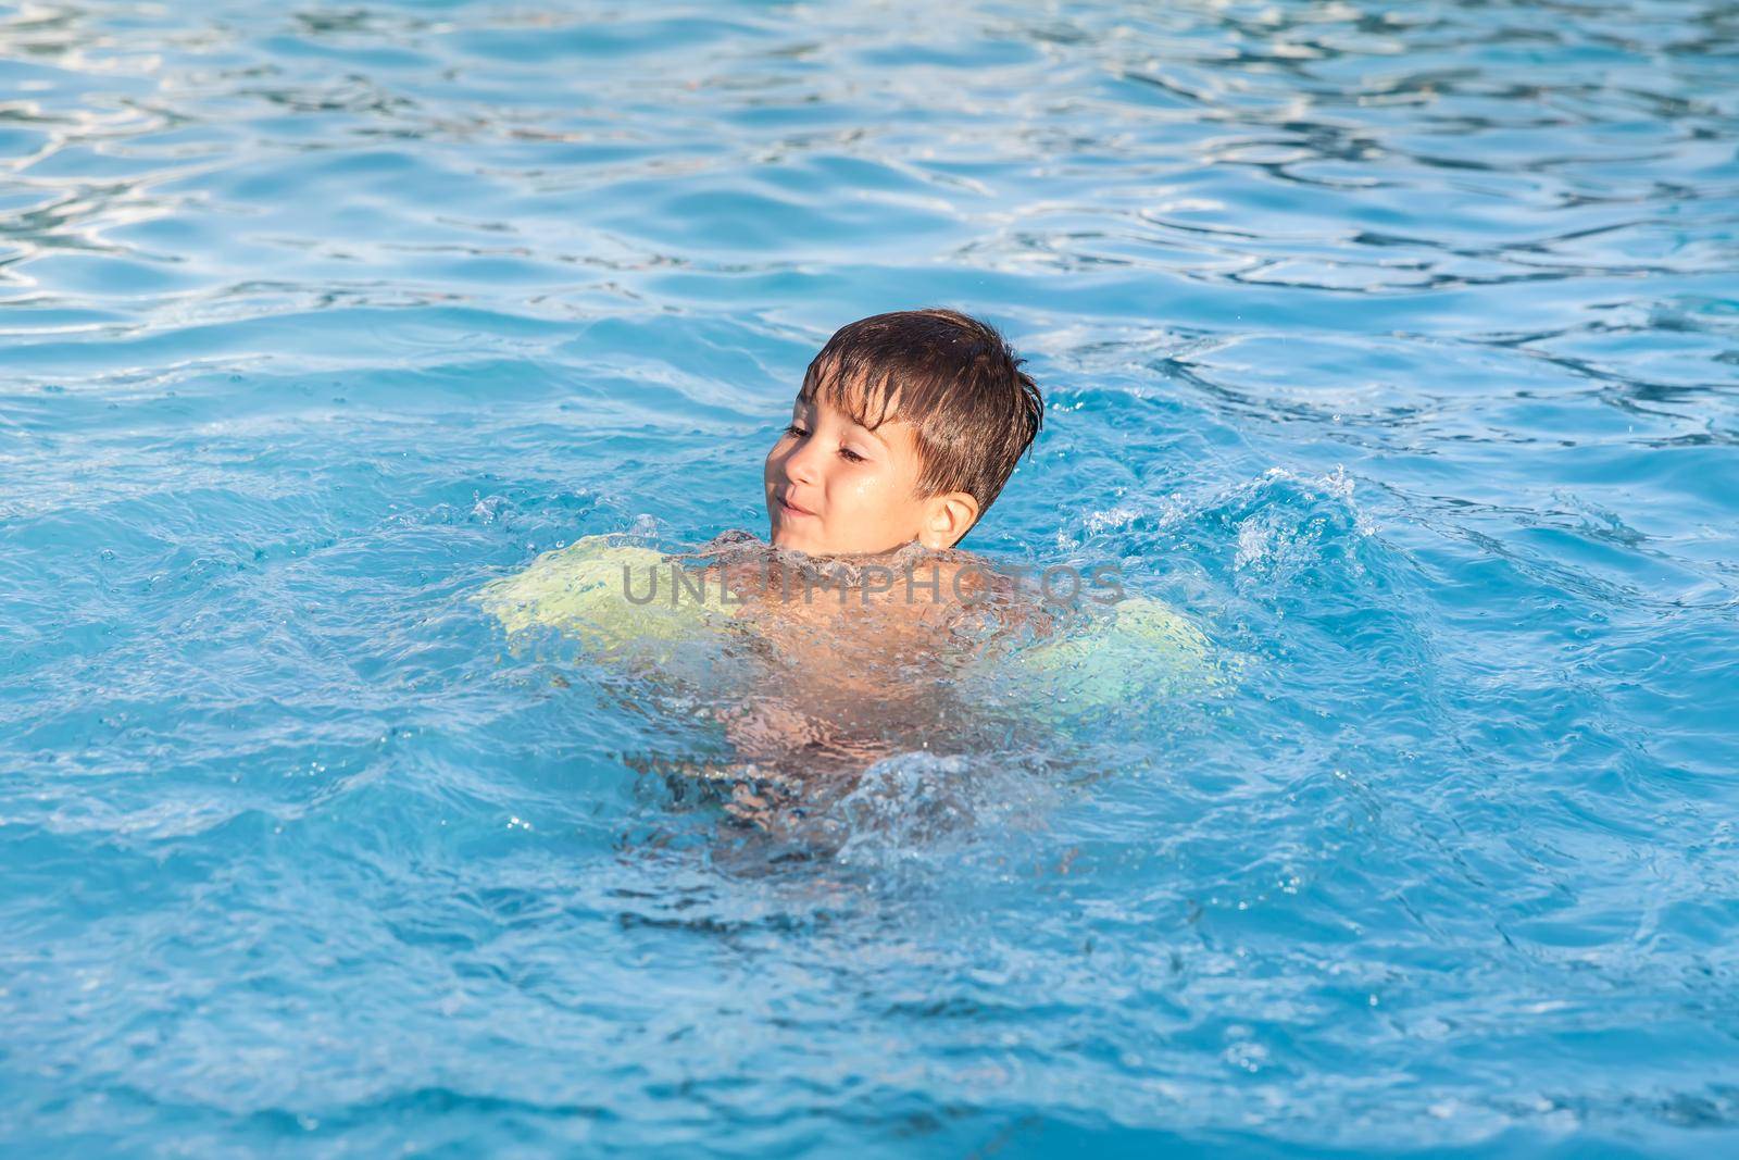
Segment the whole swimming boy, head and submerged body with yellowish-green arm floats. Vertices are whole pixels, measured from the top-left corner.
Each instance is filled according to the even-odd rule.
[[[1198,650],[1162,609],[1136,652],[1052,635],[1069,610],[1049,588],[1040,605],[956,548],[1043,409],[989,325],[951,310],[863,318],[810,362],[767,454],[770,544],[725,534],[683,567],[586,537],[487,586],[483,605],[510,631],[562,628],[596,659],[683,689],[683,713],[723,722],[732,762],[676,770],[729,786],[730,809],[769,828],[816,816],[896,753],[1007,751],[1078,696],[1080,673],[1122,704],[1143,657],[1183,656],[1167,640]],[[1054,640],[1014,666],[986,647],[1028,633]]]

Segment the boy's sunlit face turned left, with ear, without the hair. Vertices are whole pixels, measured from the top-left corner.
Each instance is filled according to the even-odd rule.
[[[871,431],[819,395],[798,398],[767,452],[770,539],[810,555],[870,555],[920,539],[932,508],[918,497],[920,468],[909,423]]]

